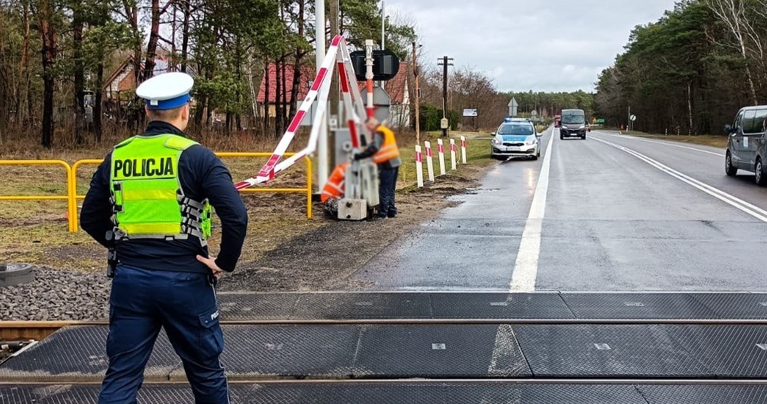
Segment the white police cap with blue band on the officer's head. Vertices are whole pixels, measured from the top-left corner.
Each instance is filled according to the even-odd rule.
[[[159,74],[144,81],[136,95],[146,100],[150,110],[172,110],[189,102],[189,90],[194,79],[186,73],[171,72]]]

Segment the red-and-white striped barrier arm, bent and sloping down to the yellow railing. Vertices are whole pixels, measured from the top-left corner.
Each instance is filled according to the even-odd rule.
[[[304,117],[306,116],[309,109],[311,108],[311,103],[313,103],[314,100],[318,98],[318,95],[321,93],[321,90],[324,90],[325,94],[323,94],[324,97],[320,97],[321,98],[320,100],[325,102],[318,103],[318,109],[314,119],[315,121],[319,122],[319,120],[324,117],[324,110],[327,109],[327,105],[328,105],[327,103],[328,90],[330,88],[329,86],[331,82],[331,75],[333,74],[333,64],[336,59],[336,54],[338,51],[339,44],[343,42],[344,42],[344,37],[341,35],[337,35],[335,38],[333,38],[333,41],[331,42],[331,46],[328,49],[328,54],[325,55],[325,58],[322,61],[320,70],[317,72],[317,76],[314,77],[314,83],[311,85],[311,89],[309,90],[309,93],[306,95],[306,98],[304,98],[304,102],[301,103],[301,108],[295,114],[295,117],[293,117],[293,120],[291,120],[290,125],[288,125],[288,130],[286,130],[285,134],[282,135],[282,139],[277,144],[277,147],[275,148],[275,151],[272,153],[272,156],[269,157],[266,164],[262,166],[260,170],[258,170],[258,174],[256,174],[255,176],[249,179],[245,179],[245,181],[237,182],[235,184],[236,189],[239,190],[239,189],[249,188],[251,186],[255,186],[256,184],[260,184],[263,182],[267,182],[270,179],[274,179],[279,172],[285,170],[289,166],[292,166],[299,160],[303,159],[305,156],[308,156],[311,153],[314,153],[314,149],[317,148],[317,138],[319,134],[320,125],[312,126],[311,135],[309,136],[309,143],[305,149],[302,149],[300,152],[296,153],[295,156],[291,156],[289,159],[285,159],[285,161],[278,164],[280,159],[282,159],[282,156],[285,154],[285,151],[288,150],[288,147],[293,141],[293,138],[295,137],[295,132],[296,130],[298,130],[298,127],[301,125],[301,120],[304,120]]]

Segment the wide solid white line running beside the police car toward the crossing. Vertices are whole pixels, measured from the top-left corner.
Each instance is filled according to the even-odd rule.
[[[541,228],[546,209],[546,194],[548,193],[548,172],[551,169],[551,146],[556,138],[555,130],[552,129],[551,140],[546,146],[546,155],[543,156],[543,166],[538,176],[538,186],[535,187],[532,206],[517,251],[512,281],[509,284],[509,289],[512,292],[535,291],[535,278],[538,277],[538,256],[541,254]]]

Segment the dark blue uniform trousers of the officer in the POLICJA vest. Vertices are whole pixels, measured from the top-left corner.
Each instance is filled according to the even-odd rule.
[[[109,369],[99,404],[134,404],[160,327],[180,356],[197,404],[227,404],[224,338],[207,275],[117,267],[110,295]]]

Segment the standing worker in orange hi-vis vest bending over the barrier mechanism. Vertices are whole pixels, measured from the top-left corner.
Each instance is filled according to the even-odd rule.
[[[373,140],[362,153],[354,155],[355,160],[371,157],[378,165],[378,215],[377,218],[396,218],[397,206],[394,205],[394,191],[397,189],[397,174],[402,166],[400,149],[394,132],[370,117],[365,126],[373,133]]]

